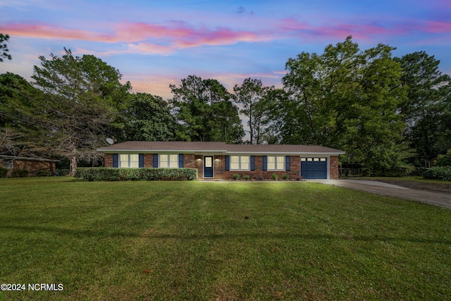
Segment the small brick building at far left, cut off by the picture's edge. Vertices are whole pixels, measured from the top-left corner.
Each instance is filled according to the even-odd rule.
[[[23,157],[0,155],[0,166],[8,169],[6,176],[10,177],[14,170],[25,169],[28,176],[36,176],[39,171],[50,171],[55,174],[56,162],[59,160],[41,157]]]

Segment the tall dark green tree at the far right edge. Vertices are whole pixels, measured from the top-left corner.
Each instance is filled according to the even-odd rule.
[[[431,158],[451,148],[451,79],[439,70],[440,61],[424,51],[395,58],[401,64],[407,99],[399,108],[404,133],[419,156]]]

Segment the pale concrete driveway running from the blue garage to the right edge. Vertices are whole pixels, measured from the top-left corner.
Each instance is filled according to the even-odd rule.
[[[451,209],[451,195],[425,190],[414,190],[397,185],[382,183],[372,180],[307,180],[309,182],[335,185],[342,188],[364,190],[377,195],[388,195],[401,199],[412,199],[414,201],[426,202]]]

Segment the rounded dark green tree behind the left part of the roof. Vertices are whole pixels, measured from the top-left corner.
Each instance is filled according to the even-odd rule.
[[[174,140],[175,120],[171,115],[168,102],[152,94],[133,94],[126,114],[124,130],[127,140]]]

